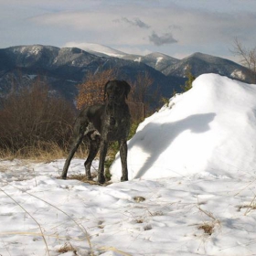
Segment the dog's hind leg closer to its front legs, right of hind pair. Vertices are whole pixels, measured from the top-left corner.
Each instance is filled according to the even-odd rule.
[[[89,148],[89,155],[84,162],[84,167],[85,167],[85,173],[88,179],[91,179],[91,162],[95,158],[95,156],[98,153],[100,143],[101,143],[101,138],[100,136],[95,136],[94,139],[89,138],[89,143],[90,143],[90,148]]]

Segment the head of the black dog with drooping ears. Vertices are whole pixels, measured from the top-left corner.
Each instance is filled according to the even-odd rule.
[[[104,87],[104,100],[120,104],[127,99],[131,86],[125,80],[109,80]]]

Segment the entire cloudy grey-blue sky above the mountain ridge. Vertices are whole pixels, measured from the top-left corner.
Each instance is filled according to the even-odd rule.
[[[238,61],[256,46],[255,0],[0,0],[0,48],[95,43],[126,53],[195,52]]]

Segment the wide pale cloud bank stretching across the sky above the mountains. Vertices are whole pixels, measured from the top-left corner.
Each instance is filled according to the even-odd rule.
[[[91,8],[49,13],[42,11],[41,15],[33,16],[27,22],[39,27],[40,31],[46,31],[45,34],[53,30],[63,31],[59,33],[59,40],[62,41],[67,40],[69,34],[76,41],[96,42],[112,47],[139,45],[159,48],[175,44],[180,48],[191,45],[202,48],[215,42],[229,44],[236,36],[249,41],[256,31],[255,16],[248,13],[237,14],[234,18],[225,12],[192,7],[188,10],[181,5],[155,8],[148,5],[144,6],[143,13],[132,4],[98,5],[97,8]],[[235,20],[240,22],[234,22]]]

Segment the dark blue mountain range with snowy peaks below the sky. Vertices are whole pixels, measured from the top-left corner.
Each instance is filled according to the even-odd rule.
[[[4,97],[14,84],[29,85],[44,80],[55,93],[73,101],[77,85],[89,72],[97,75],[104,69],[117,70],[118,79],[133,82],[138,74],[148,73],[162,96],[170,98],[181,91],[187,68],[197,77],[203,73],[218,73],[235,80],[251,82],[250,71],[229,59],[195,53],[185,59],[175,59],[162,53],[145,56],[126,54],[105,46],[88,44],[81,48],[57,48],[32,45],[0,49],[0,96]]]

